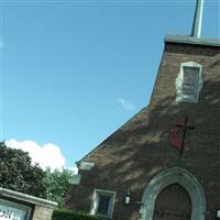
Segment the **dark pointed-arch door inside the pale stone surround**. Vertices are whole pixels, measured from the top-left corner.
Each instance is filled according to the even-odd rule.
[[[154,206],[153,220],[190,220],[191,200],[188,193],[178,184],[163,189]]]

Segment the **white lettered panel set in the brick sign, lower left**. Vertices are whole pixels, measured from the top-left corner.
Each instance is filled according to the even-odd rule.
[[[25,220],[26,210],[0,204],[0,220]]]

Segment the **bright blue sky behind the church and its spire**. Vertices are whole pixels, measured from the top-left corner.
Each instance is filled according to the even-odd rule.
[[[163,37],[190,34],[195,4],[1,0],[0,139],[74,166],[148,103]],[[219,0],[202,36],[220,37]]]

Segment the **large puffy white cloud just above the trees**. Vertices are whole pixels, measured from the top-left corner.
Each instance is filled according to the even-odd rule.
[[[51,167],[52,170],[55,168],[61,169],[65,166],[65,158],[62,155],[61,148],[52,143],[38,145],[34,141],[16,141],[11,139],[6,141],[6,145],[12,148],[20,148],[29,152],[32,158],[32,163],[38,163],[38,165],[45,169]]]

